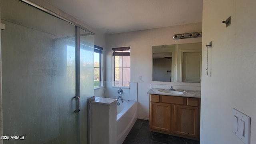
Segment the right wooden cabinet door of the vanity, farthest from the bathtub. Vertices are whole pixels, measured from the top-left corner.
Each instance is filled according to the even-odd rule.
[[[174,133],[198,138],[198,108],[174,105]]]

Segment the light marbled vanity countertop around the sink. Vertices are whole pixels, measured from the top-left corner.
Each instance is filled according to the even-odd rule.
[[[186,93],[184,93],[184,94],[170,94],[170,93],[158,91],[158,90],[162,90],[162,89],[164,89],[164,88],[150,88],[150,90],[148,90],[148,94],[201,98],[201,91],[200,90],[180,90],[180,91],[185,91]]]

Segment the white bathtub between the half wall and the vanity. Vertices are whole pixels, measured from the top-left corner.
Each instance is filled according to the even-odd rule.
[[[137,101],[118,100],[116,106],[117,144],[122,144],[138,118]],[[118,103],[116,102],[116,103]]]

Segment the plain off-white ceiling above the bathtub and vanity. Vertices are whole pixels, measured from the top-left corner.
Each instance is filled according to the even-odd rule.
[[[105,34],[202,22],[203,0],[46,0]]]

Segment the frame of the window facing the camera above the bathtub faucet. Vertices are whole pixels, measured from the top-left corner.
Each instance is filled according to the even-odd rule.
[[[120,51],[127,51],[127,50],[129,50],[129,52],[120,52]],[[116,56],[130,56],[130,52],[131,52],[130,51],[130,46],[112,48],[112,56],[114,57],[114,86],[116,86],[116,87],[129,87],[129,84],[128,84],[128,86],[124,86],[124,83],[123,83],[123,81],[124,81],[123,78],[124,77],[123,76],[122,76],[122,86],[116,85]],[[123,69],[124,67],[122,66],[122,67],[119,67],[119,68]],[[131,66],[129,68],[131,69]],[[131,74],[131,72],[130,72],[130,74]],[[131,75],[130,75],[129,83],[130,82],[131,82]]]

